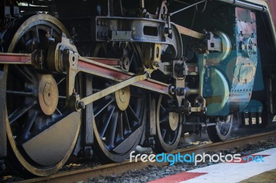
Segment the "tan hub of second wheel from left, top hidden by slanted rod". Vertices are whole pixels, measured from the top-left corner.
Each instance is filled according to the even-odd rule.
[[[124,87],[115,92],[116,103],[121,111],[126,110],[130,101],[130,87]]]

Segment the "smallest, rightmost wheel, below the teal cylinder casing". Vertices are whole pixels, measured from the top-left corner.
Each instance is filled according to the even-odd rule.
[[[233,126],[233,115],[220,120],[216,125],[208,126],[207,132],[212,142],[222,142],[229,138]]]

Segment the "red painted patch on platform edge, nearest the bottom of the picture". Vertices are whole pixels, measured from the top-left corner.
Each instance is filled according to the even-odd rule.
[[[161,179],[157,180],[152,180],[148,183],[162,183],[162,182],[181,182],[181,181],[186,181],[193,179],[195,177],[199,177],[200,175],[205,175],[207,173],[198,173],[198,172],[183,172],[183,173],[178,173],[176,175],[170,175],[168,177],[164,177]]]

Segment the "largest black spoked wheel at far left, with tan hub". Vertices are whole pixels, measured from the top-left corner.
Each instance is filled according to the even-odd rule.
[[[10,30],[12,32],[12,30]],[[36,14],[6,33],[8,52],[44,52],[48,38],[66,32],[55,17]],[[8,38],[11,39],[8,39]],[[66,74],[31,65],[5,65],[8,162],[21,176],[55,173],[68,160],[80,128],[79,112],[66,108]],[[76,83],[80,83],[78,80]],[[81,89],[79,84],[76,90]]]

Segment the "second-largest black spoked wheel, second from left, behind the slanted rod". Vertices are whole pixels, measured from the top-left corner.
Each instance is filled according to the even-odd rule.
[[[136,45],[128,45],[129,70],[141,66]],[[92,92],[114,85],[114,82],[92,78]],[[93,103],[95,155],[105,162],[121,162],[135,150],[144,131],[145,94],[137,87],[124,87]]]

